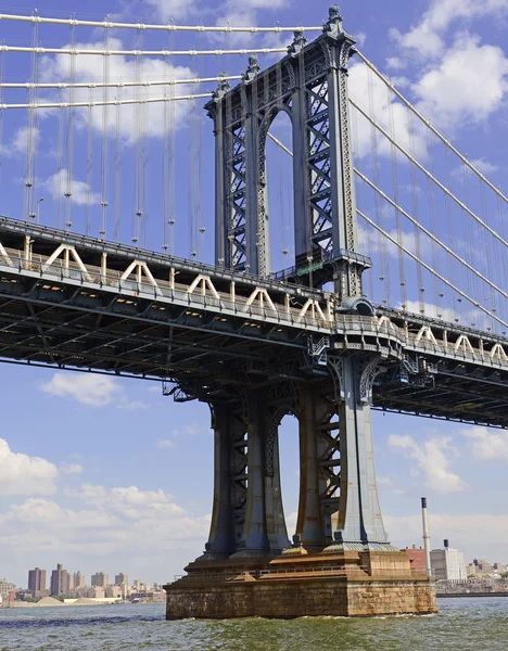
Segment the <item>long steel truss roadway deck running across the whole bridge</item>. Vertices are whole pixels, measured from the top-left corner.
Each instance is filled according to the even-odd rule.
[[[0,358],[152,380],[178,399],[322,382],[377,355],[374,407],[508,426],[508,342],[334,295],[0,219]],[[229,387],[229,388],[228,388]]]

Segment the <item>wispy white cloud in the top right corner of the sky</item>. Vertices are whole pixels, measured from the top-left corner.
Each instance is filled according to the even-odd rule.
[[[433,0],[415,27],[406,34],[393,28],[391,36],[403,48],[439,58],[445,47],[443,36],[455,21],[507,13],[508,0]]]

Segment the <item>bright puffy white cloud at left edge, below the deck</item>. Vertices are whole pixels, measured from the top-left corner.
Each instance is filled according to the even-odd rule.
[[[58,474],[53,463],[13,452],[0,438],[0,495],[52,495]]]

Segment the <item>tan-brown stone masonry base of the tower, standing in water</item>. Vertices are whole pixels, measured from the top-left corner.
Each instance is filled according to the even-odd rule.
[[[194,567],[188,577],[165,586],[166,618],[292,618],[436,612],[434,586],[426,576],[411,575],[409,570],[402,572],[405,576],[394,576],[394,554],[388,563],[391,567],[378,566],[377,570],[374,565],[379,553],[372,554],[374,562],[370,565],[366,565],[365,554],[356,556],[365,570],[351,563],[351,558],[346,559],[348,566],[341,565],[344,569],[342,573],[334,569],[333,562],[335,567],[339,560],[344,563],[344,554],[341,559],[330,559],[328,567],[323,566],[322,556],[319,554],[318,559],[316,554],[314,570],[309,557],[302,559],[303,566],[292,559],[291,565],[287,565],[283,572],[280,560],[283,566],[289,559],[277,559],[269,563],[268,572],[247,571],[227,578],[226,575],[225,578],[214,578],[208,573],[201,580],[200,572]]]

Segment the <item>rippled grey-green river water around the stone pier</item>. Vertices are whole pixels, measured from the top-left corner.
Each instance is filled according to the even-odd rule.
[[[508,598],[441,599],[423,617],[166,622],[163,604],[0,609],[0,651],[508,650]]]

